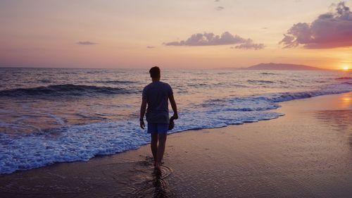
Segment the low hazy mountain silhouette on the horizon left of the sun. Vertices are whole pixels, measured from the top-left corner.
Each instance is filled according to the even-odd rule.
[[[242,70],[325,70],[323,68],[315,68],[312,66],[296,65],[289,63],[260,63]]]

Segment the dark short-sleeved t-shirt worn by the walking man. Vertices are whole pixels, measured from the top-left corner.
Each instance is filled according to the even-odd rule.
[[[168,83],[156,81],[146,85],[142,97],[146,99],[146,121],[149,123],[169,123],[168,99],[172,95],[172,88]]]

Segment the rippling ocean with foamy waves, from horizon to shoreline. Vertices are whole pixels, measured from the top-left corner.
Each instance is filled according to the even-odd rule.
[[[270,120],[281,101],[352,91],[342,71],[165,69],[172,132]],[[0,68],[0,173],[137,149],[148,69]],[[172,110],[170,108],[170,115]]]

